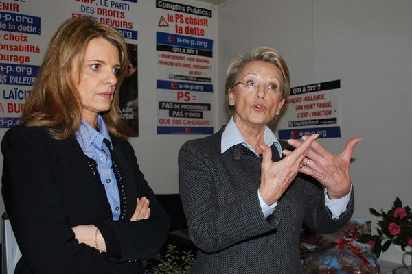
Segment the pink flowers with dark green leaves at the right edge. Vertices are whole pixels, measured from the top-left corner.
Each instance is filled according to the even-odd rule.
[[[411,208],[402,206],[402,201],[398,197],[387,212],[384,212],[382,208],[380,212],[369,208],[369,212],[381,218],[377,222],[376,232],[378,234],[362,234],[359,242],[369,243],[377,258],[379,258],[380,253],[387,251],[391,244],[400,245],[402,251],[405,251],[405,247],[412,246]]]

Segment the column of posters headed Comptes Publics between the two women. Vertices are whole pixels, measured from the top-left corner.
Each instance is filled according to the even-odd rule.
[[[212,134],[212,10],[156,0],[157,134]]]

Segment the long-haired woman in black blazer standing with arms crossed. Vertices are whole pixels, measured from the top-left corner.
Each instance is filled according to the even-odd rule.
[[[124,135],[119,84],[126,44],[112,27],[73,18],[56,32],[6,132],[3,199],[23,257],[16,273],[142,273],[169,217]]]

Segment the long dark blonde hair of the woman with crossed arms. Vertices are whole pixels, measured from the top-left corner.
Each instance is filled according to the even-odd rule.
[[[118,106],[119,85],[127,67],[126,42],[113,27],[84,17],[65,21],[54,34],[25,103],[22,119],[27,125],[47,127],[52,137],[58,140],[78,131],[82,121],[82,102],[71,71],[73,66],[77,66],[80,79],[84,53],[95,38],[104,38],[119,49],[121,68],[115,96],[110,110],[101,115],[109,132],[126,138]]]

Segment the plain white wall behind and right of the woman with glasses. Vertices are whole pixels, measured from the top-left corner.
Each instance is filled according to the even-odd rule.
[[[321,143],[340,153],[363,137],[350,169],[354,218],[376,220],[368,208],[389,210],[396,196],[412,206],[412,2],[229,0],[218,12],[220,88],[233,55],[259,45],[283,55],[292,86],[341,79],[342,138]],[[392,247],[381,258],[400,254]]]

